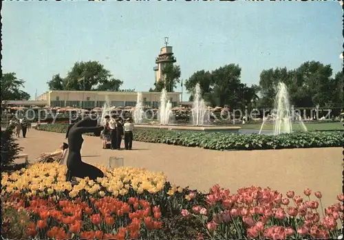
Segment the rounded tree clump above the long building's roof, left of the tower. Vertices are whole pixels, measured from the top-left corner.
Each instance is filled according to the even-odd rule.
[[[118,91],[122,83],[97,61],[81,61],[74,63],[66,78],[56,74],[47,85],[50,90]]]

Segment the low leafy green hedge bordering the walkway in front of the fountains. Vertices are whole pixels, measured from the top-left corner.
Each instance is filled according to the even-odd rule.
[[[39,130],[65,133],[67,124],[41,125]],[[180,146],[199,146],[214,150],[254,150],[343,146],[344,135],[341,131],[294,132],[275,136],[136,129],[134,140]]]

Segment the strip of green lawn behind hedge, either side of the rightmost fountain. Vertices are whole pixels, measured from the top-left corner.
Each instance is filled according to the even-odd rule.
[[[236,124],[235,126],[241,127],[241,129],[254,129],[259,130],[261,127],[260,123],[252,124]],[[314,122],[314,123],[305,123],[308,131],[326,131],[326,130],[344,130],[343,122]],[[272,130],[274,124],[264,124],[263,130]],[[292,124],[293,130],[302,130],[299,123]]]

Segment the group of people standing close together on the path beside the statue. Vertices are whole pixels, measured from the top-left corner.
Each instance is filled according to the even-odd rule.
[[[103,138],[103,149],[120,149],[122,137],[125,137],[125,149],[131,150],[133,146],[133,120],[127,118],[123,124],[122,118],[115,115],[105,116],[102,123],[104,130],[101,135]]]

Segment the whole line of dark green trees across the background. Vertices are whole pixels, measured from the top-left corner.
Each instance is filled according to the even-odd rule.
[[[149,91],[174,91],[180,84],[180,66],[168,64],[162,69],[164,80],[154,83]],[[257,85],[241,83],[241,67],[228,64],[211,71],[200,70],[184,81],[191,94],[197,83],[202,98],[213,106],[230,108],[273,107],[279,82],[286,83],[290,102],[294,107],[343,107],[343,71],[333,73],[330,65],[308,61],[296,69],[276,67],[264,69]],[[3,100],[28,100],[30,95],[21,90],[24,80],[15,73],[2,74]],[[65,78],[55,74],[47,81],[50,90],[124,91],[122,80],[114,78],[98,61],[76,62]]]

